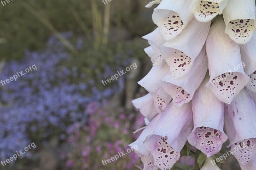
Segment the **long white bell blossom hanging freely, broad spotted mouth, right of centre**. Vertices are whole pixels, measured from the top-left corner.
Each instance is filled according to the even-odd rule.
[[[242,66],[239,45],[224,33],[225,23],[218,16],[206,40],[210,80],[206,87],[222,102],[230,104],[249,82]]]

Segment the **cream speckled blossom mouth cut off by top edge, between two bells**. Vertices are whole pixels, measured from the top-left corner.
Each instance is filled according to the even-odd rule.
[[[197,0],[195,18],[200,22],[211,21],[214,17],[222,14],[228,0]]]

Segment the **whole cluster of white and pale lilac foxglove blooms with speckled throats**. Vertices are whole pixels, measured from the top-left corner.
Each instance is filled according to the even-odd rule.
[[[245,144],[233,153],[241,169],[256,169],[255,1],[152,4],[158,27],[143,38],[153,67],[138,82],[149,93],[132,101],[147,125],[130,144],[144,170],[170,169],[187,141],[207,156],[202,169],[219,169],[209,162],[228,139],[232,151]]]

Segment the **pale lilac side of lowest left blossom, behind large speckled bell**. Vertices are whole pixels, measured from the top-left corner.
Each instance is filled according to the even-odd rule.
[[[146,140],[146,137],[148,135],[153,134],[161,115],[162,114],[156,115],[156,117],[141,132],[138,139],[136,141],[134,141],[133,143],[129,144],[129,146],[131,146],[131,147],[137,145],[138,150],[136,152],[140,153],[141,155],[145,155],[145,156],[150,155],[150,152],[148,150],[146,150],[146,148],[144,147],[143,142]]]

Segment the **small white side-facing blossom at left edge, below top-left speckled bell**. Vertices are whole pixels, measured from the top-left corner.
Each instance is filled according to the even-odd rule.
[[[156,28],[152,33],[149,33],[142,38],[148,40],[151,48],[145,48],[145,52],[151,58],[153,66],[158,66],[164,63],[164,59],[161,55],[161,46],[164,44],[164,39],[159,33],[159,28]],[[153,53],[153,51],[155,53]]]

